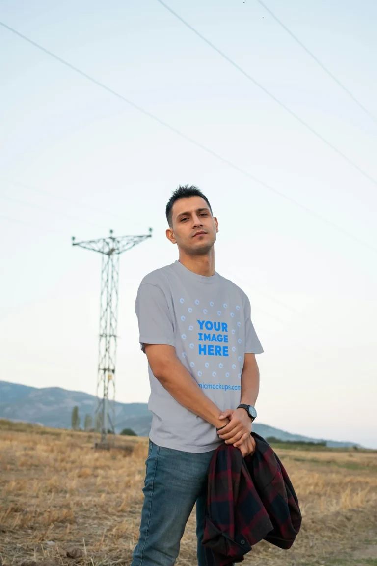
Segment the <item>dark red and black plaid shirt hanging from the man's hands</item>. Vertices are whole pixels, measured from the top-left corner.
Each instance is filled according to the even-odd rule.
[[[291,548],[301,512],[283,464],[262,436],[252,432],[255,452],[221,444],[208,471],[203,546],[208,566],[241,562],[262,539]]]

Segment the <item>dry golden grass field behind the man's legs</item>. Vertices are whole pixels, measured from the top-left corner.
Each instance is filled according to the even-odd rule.
[[[0,566],[131,564],[148,439],[117,437],[131,455],[94,451],[95,440],[0,422]],[[302,529],[291,550],[257,544],[245,566],[377,565],[377,451],[275,451]],[[176,564],[196,564],[194,511]]]

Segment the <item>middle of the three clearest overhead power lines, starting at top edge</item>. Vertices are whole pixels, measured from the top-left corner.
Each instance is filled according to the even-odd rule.
[[[219,55],[221,55],[221,57],[226,59],[226,61],[228,61],[228,63],[230,63],[233,67],[235,67],[238,71],[240,71],[242,73],[242,75],[244,75],[253,84],[255,84],[256,87],[260,88],[261,91],[263,91],[267,96],[272,98],[272,100],[274,100],[276,102],[276,104],[279,104],[279,106],[281,106],[281,108],[283,108],[286,112],[288,112],[288,114],[291,114],[291,116],[294,119],[296,119],[298,122],[300,122],[300,124],[302,124],[302,126],[305,126],[305,128],[307,130],[309,130],[312,134],[317,136],[318,139],[323,141],[324,144],[326,144],[328,147],[330,147],[335,153],[337,153],[337,155],[342,157],[349,165],[351,165],[354,169],[356,169],[359,173],[361,173],[366,179],[369,179],[369,181],[374,183],[374,185],[377,185],[376,179],[371,177],[371,175],[369,175],[366,171],[364,171],[361,167],[359,167],[354,161],[352,161],[352,159],[350,159],[348,156],[346,156],[345,153],[343,153],[343,151],[340,151],[340,149],[335,147],[335,145],[333,145],[331,143],[331,141],[328,141],[326,138],[324,138],[324,136],[322,134],[317,132],[317,130],[314,130],[314,128],[311,127],[307,122],[305,122],[305,120],[303,120],[302,118],[300,118],[300,116],[298,114],[293,112],[293,110],[291,110],[291,108],[289,108],[289,106],[284,104],[284,102],[281,102],[281,100],[279,100],[279,98],[277,98],[275,95],[273,95],[272,92],[268,91],[267,88],[263,87],[263,85],[261,83],[258,83],[258,81],[256,79],[254,79],[254,77],[249,75],[248,72],[246,72],[242,67],[237,65],[237,63],[235,63],[235,61],[233,61],[233,59],[228,57],[228,55],[226,55],[222,50],[220,50],[218,47],[216,47],[216,45],[214,45],[211,41],[207,40],[207,38],[205,36],[203,36],[200,32],[197,31],[197,29],[195,29],[194,27],[192,27],[192,25],[190,25],[188,22],[186,22],[186,20],[181,18],[181,16],[179,14],[177,14],[174,10],[172,10],[172,8],[170,6],[165,4],[162,0],[157,0],[157,2],[159,4],[161,4],[161,6],[166,8],[166,10],[168,10],[172,15],[174,15],[175,18],[179,19],[180,22],[182,22],[187,28],[189,28],[192,32],[194,32],[198,37],[200,37],[202,41],[204,41],[207,45],[210,46],[210,48],[214,49],[216,53],[218,53]]]

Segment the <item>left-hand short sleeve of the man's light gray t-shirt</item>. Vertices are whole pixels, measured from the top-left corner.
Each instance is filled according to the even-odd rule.
[[[137,291],[135,312],[142,351],[145,351],[144,344],[175,346],[174,327],[162,289],[142,283]]]

